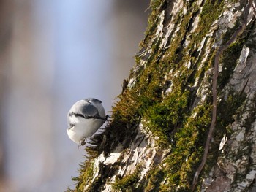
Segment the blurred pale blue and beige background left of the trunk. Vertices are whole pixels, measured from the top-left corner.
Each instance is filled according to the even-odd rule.
[[[74,188],[85,151],[67,137],[75,101],[121,93],[149,0],[0,0],[0,191]]]

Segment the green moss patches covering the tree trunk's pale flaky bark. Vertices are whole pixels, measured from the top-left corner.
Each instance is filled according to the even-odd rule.
[[[151,1],[146,38],[141,44],[147,48],[148,45],[151,46],[149,47],[150,58],[143,66],[139,66],[140,56],[135,58],[139,69],[132,72],[130,76],[135,78],[135,83],[132,88],[127,88],[122,95],[118,96],[118,101],[113,107],[112,119],[104,134],[93,140],[93,144],[98,145],[87,149],[91,158],[81,165],[80,176],[73,178],[76,183],[75,191],[83,191],[84,186],[91,181],[95,172],[92,158],[99,153],[108,155],[120,144],[124,151],[129,147],[136,137],[136,129],[141,119],[145,120],[148,130],[159,137],[159,145],[169,149],[170,153],[165,156],[163,162],[154,166],[146,174],[144,183],[139,183],[142,166],[138,166],[132,174],[125,177],[117,176],[113,189],[115,191],[142,191],[143,189],[145,191],[189,191],[193,174],[203,154],[212,110],[211,96],[208,96],[203,104],[192,109],[198,90],[198,87],[194,88],[192,85],[195,84],[195,80],[198,80],[197,85],[200,85],[206,77],[206,71],[213,66],[215,55],[215,50],[212,49],[207,60],[202,63],[203,57],[206,57],[204,55],[206,46],[203,46],[202,50],[198,50],[198,47],[225,6],[224,1],[206,0],[203,3],[202,12],[199,12],[200,7],[197,6],[197,2],[189,1],[187,15],[183,15],[183,10],[177,15],[172,15],[176,17],[174,18],[175,26],[179,27],[179,30],[175,37],[171,36],[168,39],[170,46],[161,50],[159,48],[161,39],[154,39],[154,33],[159,24],[159,12],[165,9],[166,4],[167,1],[163,0]],[[191,34],[190,23],[195,19],[193,18],[195,13],[200,14],[200,20],[195,33]],[[152,39],[154,42],[151,42]],[[186,39],[189,40],[189,45],[184,47]],[[214,36],[207,37],[206,41],[208,47],[211,47]],[[244,40],[239,39],[222,56],[224,70],[219,74],[219,88],[223,88],[230,78],[243,45]],[[188,69],[184,64],[189,61],[191,67]],[[172,86],[172,92],[165,93],[169,85]],[[211,86],[211,77],[208,77],[207,86]],[[238,110],[244,99],[244,95],[230,93],[227,100],[219,103],[217,129],[214,131],[214,140],[217,142],[211,146],[206,170],[211,169],[212,164],[215,164],[219,139],[227,132],[227,127],[233,122],[234,112]],[[113,165],[111,172],[108,170],[110,168],[102,168],[101,171],[108,172],[105,177],[112,177],[116,174],[118,166],[120,165]],[[97,181],[96,178],[94,183],[91,183],[91,188],[97,188],[97,183],[104,182],[105,180]]]

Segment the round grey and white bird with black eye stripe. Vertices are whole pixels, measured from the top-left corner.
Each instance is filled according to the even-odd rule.
[[[105,115],[102,101],[95,98],[77,101],[67,113],[67,135],[69,139],[78,144],[86,144],[86,139],[91,137],[110,115]]]

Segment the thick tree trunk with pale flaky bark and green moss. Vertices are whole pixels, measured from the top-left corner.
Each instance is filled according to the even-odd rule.
[[[256,191],[255,7],[151,1],[136,64],[74,191]]]

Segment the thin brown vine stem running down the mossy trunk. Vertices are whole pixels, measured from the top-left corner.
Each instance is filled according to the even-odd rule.
[[[200,175],[200,172],[202,171],[204,165],[206,164],[206,158],[208,155],[208,150],[210,147],[210,142],[211,142],[212,134],[214,132],[214,127],[215,127],[215,123],[216,123],[216,118],[217,118],[217,79],[218,79],[218,74],[219,74],[219,58],[222,55],[222,53],[227,49],[227,47],[230,46],[230,44],[236,40],[236,37],[238,37],[238,34],[240,34],[242,31],[244,31],[244,29],[246,27],[247,20],[248,20],[249,9],[251,7],[252,7],[252,0],[249,0],[248,4],[244,8],[244,20],[241,23],[241,27],[238,28],[237,31],[235,31],[233,36],[230,37],[230,40],[225,45],[222,45],[222,47],[219,47],[219,49],[217,50],[217,53],[214,57],[214,77],[213,77],[213,85],[212,85],[213,111],[212,111],[212,118],[211,118],[211,126],[210,126],[210,129],[208,132],[208,137],[206,140],[206,146],[204,148],[202,161],[200,163],[200,166],[198,166],[197,171],[195,172],[195,175],[194,175],[194,180],[192,183],[191,191],[195,190],[195,186],[197,185],[197,180]]]

